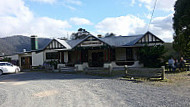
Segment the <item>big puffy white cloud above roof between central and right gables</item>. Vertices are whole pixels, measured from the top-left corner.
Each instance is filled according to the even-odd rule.
[[[131,35],[143,32],[144,30],[142,28],[144,28],[145,25],[144,20],[133,15],[127,15],[105,18],[95,27],[99,33],[113,32],[117,35]]]

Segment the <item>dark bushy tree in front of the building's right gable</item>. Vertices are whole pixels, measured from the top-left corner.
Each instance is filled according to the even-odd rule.
[[[165,52],[164,46],[149,47],[145,45],[139,50],[139,61],[143,63],[145,67],[160,67]]]

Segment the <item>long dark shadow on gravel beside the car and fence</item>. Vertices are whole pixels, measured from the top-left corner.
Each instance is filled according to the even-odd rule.
[[[105,79],[100,76],[85,75],[84,73],[60,72],[20,72],[17,74],[3,74],[0,82],[31,81],[31,80],[72,80],[72,79]]]

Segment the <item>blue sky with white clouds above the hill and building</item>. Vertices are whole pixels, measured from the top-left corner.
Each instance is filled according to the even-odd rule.
[[[152,32],[173,41],[176,0],[0,0],[0,38],[13,35],[69,37],[79,28],[93,35]]]

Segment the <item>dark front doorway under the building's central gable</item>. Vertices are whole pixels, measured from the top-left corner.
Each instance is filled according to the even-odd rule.
[[[103,52],[92,53],[92,67],[103,67]]]

